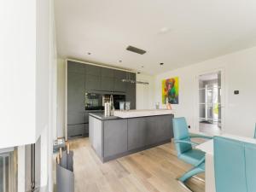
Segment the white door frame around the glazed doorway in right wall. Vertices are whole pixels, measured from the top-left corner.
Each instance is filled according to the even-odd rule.
[[[212,70],[206,70],[201,71],[200,73],[197,73],[195,76],[195,129],[197,132],[200,132],[199,129],[199,77],[201,75],[207,74],[207,73],[221,73],[221,130],[220,132],[223,133],[225,130],[225,101],[226,101],[226,89],[225,89],[225,70],[224,67],[215,68]]]

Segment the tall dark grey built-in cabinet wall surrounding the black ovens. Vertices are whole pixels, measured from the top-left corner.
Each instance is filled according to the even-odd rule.
[[[89,114],[85,111],[85,92],[125,95],[136,108],[136,84],[122,79],[136,80],[136,73],[67,60],[67,137],[89,135]]]

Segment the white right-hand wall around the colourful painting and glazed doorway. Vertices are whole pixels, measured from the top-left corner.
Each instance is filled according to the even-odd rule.
[[[179,77],[180,103],[172,107],[177,117],[186,117],[192,126],[191,131],[197,131],[196,76],[219,68],[224,69],[224,132],[253,137],[256,123],[256,47],[156,75],[155,102],[161,103],[161,80]],[[234,95],[234,90],[240,90],[240,95]]]

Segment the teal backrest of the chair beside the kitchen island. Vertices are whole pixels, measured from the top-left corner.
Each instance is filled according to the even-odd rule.
[[[173,133],[174,133],[174,143],[177,140],[189,141],[189,129],[185,118],[173,118]],[[175,143],[177,150],[177,156],[183,154],[184,152],[191,150],[192,146],[189,143]]]

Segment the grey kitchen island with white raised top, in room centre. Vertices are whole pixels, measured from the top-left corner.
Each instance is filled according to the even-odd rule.
[[[171,111],[131,110],[114,114],[119,117],[89,114],[90,144],[102,162],[171,142]]]

